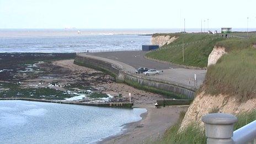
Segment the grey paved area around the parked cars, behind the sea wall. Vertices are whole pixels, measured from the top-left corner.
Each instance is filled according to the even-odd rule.
[[[180,68],[177,66],[164,64],[156,61],[147,60],[144,58],[146,52],[144,51],[119,51],[119,52],[98,52],[91,53],[89,55],[104,57],[110,60],[119,61],[121,63],[126,63],[132,67],[148,67],[156,68],[157,70],[163,71],[163,73],[157,77],[160,79],[165,79],[168,81],[177,82],[180,84],[185,84],[186,86],[194,86],[194,74],[198,79],[198,86],[202,84],[205,79],[206,70],[194,70],[187,68]]]

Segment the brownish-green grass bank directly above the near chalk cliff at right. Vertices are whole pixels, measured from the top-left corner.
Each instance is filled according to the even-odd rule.
[[[235,50],[207,68],[204,88],[207,94],[226,94],[245,101],[256,96],[256,49]]]

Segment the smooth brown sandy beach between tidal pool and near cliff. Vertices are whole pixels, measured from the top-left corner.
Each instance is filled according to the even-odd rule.
[[[123,134],[108,137],[100,143],[143,143],[157,140],[178,121],[180,112],[187,109],[188,106],[147,108],[147,113],[141,115],[141,121],[127,124]]]

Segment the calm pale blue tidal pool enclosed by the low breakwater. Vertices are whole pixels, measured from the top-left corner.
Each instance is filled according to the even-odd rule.
[[[141,120],[146,109],[0,101],[0,143],[93,143]]]

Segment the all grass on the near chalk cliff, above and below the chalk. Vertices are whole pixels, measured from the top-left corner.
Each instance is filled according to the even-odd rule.
[[[256,96],[256,39],[225,39],[217,41],[217,46],[226,47],[228,54],[218,60],[216,65],[207,68],[204,87],[206,93],[228,94],[248,100]],[[241,101],[242,102],[242,101]],[[216,112],[218,110],[212,110]],[[154,143],[206,143],[204,131],[198,125],[191,123],[182,132],[179,127],[184,114],[180,115],[179,122],[170,127],[162,140]],[[256,110],[237,115],[238,122],[234,130],[249,124],[256,119]]]

